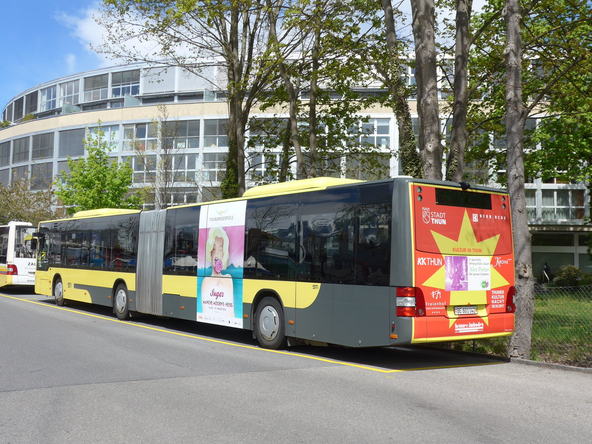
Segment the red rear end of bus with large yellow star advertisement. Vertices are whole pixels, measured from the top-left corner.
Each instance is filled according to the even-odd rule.
[[[513,330],[507,194],[413,184],[414,281],[423,298],[414,337],[454,340]],[[423,309],[423,310],[422,310]],[[511,319],[510,319],[511,318]]]

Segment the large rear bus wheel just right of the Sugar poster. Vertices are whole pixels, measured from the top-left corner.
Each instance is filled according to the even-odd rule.
[[[257,306],[255,313],[255,337],[265,349],[285,348],[284,310],[278,300],[265,297]]]

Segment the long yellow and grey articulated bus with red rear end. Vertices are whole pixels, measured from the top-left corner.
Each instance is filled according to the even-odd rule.
[[[36,292],[252,330],[263,348],[510,336],[507,192],[315,178],[40,223]]]

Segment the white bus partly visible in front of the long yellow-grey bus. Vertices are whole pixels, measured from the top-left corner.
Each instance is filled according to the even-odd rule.
[[[37,228],[29,222],[0,225],[0,287],[35,285],[37,259],[31,248]]]

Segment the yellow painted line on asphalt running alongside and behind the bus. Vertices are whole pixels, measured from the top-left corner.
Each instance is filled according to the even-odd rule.
[[[147,329],[147,330],[154,330],[155,332],[176,334],[177,336],[191,337],[193,339],[200,339],[200,340],[204,340],[207,342],[214,342],[214,343],[218,343],[218,344],[222,344],[222,345],[231,345],[234,347],[240,347],[240,348],[244,348],[244,349],[257,350],[259,352],[271,352],[271,353],[278,353],[279,355],[288,355],[288,356],[296,356],[297,358],[313,359],[314,361],[327,362],[330,364],[337,364],[337,365],[345,365],[348,367],[356,367],[356,368],[361,368],[361,369],[365,369],[365,370],[372,370],[372,371],[379,372],[379,373],[398,373],[398,372],[410,372],[410,371],[417,371],[417,370],[433,370],[433,369],[457,368],[457,367],[474,367],[474,366],[479,366],[479,365],[493,365],[493,364],[503,363],[500,361],[500,362],[485,362],[485,363],[478,363],[478,364],[442,365],[442,366],[434,366],[434,367],[408,368],[408,369],[403,369],[403,370],[401,370],[401,369],[387,370],[387,369],[370,367],[367,365],[352,364],[352,363],[343,362],[343,361],[332,361],[331,359],[317,358],[316,356],[302,355],[300,353],[284,352],[282,350],[269,350],[269,349],[264,349],[264,348],[260,348],[260,347],[253,347],[251,345],[236,344],[233,342],[226,342],[226,341],[221,341],[218,339],[210,339],[208,337],[195,336],[194,334],[179,333],[179,332],[173,332],[171,330],[157,329],[156,327],[150,327],[150,326],[138,324],[135,322],[122,321],[117,318],[99,316],[97,314],[85,313],[83,311],[70,310],[70,308],[57,307],[57,305],[48,305],[46,303],[33,301],[33,300],[27,299],[27,298],[17,298],[17,297],[9,296],[7,294],[2,294],[2,293],[0,293],[0,295],[4,296],[6,298],[15,299],[17,301],[24,301],[24,302],[28,302],[31,304],[41,305],[42,307],[57,308],[59,310],[69,311],[70,313],[83,314],[84,316],[95,317],[95,318],[106,320],[106,321],[118,322],[121,324],[127,324],[127,325],[134,326],[134,327],[140,327],[142,329]]]

